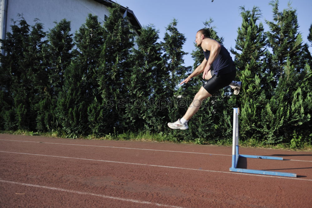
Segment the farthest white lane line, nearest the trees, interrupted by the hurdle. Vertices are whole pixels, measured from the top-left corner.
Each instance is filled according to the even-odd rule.
[[[117,146],[78,145],[78,144],[63,144],[63,143],[51,143],[51,142],[41,142],[41,141],[8,140],[8,139],[0,139],[0,141],[20,141],[20,142],[34,142],[34,143],[57,144],[57,145],[94,146],[94,147],[105,147],[105,148],[130,149],[130,150],[147,150],[147,151],[178,152],[178,153],[192,153],[192,154],[203,154],[203,155],[220,155],[220,156],[231,156],[231,157],[232,157],[232,155],[222,155],[222,154],[212,154],[212,153],[202,153],[202,152],[185,152],[185,151],[171,151],[171,150],[153,150],[153,149],[141,149],[141,148],[130,148],[130,147],[117,147]],[[309,160],[292,160],[292,159],[285,159],[285,160],[300,161],[300,162],[312,162],[312,161],[309,161]]]

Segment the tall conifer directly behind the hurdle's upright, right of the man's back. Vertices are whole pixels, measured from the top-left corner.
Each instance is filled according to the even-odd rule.
[[[261,17],[261,10],[254,6],[251,11],[240,7],[242,24],[237,30],[235,64],[238,80],[242,82],[241,93],[232,96],[232,102],[241,108],[240,135],[243,138],[258,138],[261,135],[259,126],[260,113],[271,98],[270,70],[266,66],[264,57],[266,50],[266,35],[263,25],[257,21]],[[272,75],[271,75],[272,76]]]

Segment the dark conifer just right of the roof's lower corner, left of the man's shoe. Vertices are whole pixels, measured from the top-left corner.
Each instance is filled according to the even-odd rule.
[[[164,127],[165,123],[163,118],[166,114],[159,109],[157,102],[166,98],[164,79],[167,74],[163,67],[161,44],[157,42],[158,33],[154,25],[143,27],[136,39],[138,49],[134,48],[130,56],[134,66],[126,75],[130,78],[129,103],[123,119],[134,131],[142,128],[159,130],[159,126]]]

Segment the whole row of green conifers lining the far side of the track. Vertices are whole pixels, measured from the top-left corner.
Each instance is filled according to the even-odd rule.
[[[280,12],[278,1],[271,5],[267,32],[258,23],[258,7],[240,8],[242,24],[231,48],[240,94],[226,87],[206,99],[186,131],[172,131],[167,122],[183,116],[203,80],[178,85],[193,69],[184,66],[186,38],[176,19],[160,41],[154,25],[136,36],[118,5],[109,8],[104,23],[89,14],[75,34],[65,19],[45,32],[38,20],[30,26],[21,18],[1,40],[0,129],[58,131],[71,138],[149,131],[177,140],[229,140],[232,108],[240,107],[241,139],[311,142],[309,45],[298,32],[296,10],[289,5]],[[222,44],[212,23],[204,28]],[[312,24],[309,32],[312,44]],[[194,48],[195,68],[204,57]]]

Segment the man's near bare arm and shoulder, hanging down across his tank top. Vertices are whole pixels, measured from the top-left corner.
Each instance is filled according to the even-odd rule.
[[[220,53],[221,44],[218,43],[216,40],[213,40],[210,38],[206,38],[202,44],[203,44],[203,49],[210,51],[209,59],[208,59],[207,64],[204,68],[204,72],[202,73],[202,78],[205,79],[206,74],[210,70],[212,62],[214,62],[214,60],[216,60],[216,58],[218,57],[218,55]]]

